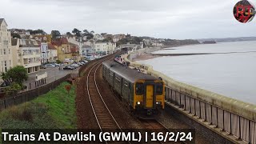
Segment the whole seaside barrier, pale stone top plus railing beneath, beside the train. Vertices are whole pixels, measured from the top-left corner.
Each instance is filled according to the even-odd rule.
[[[126,61],[130,62],[127,58]],[[144,68],[155,77],[162,77],[166,82],[166,103],[178,106],[238,140],[256,144],[256,106],[174,81],[153,70],[152,66],[136,62],[130,62],[130,65]]]

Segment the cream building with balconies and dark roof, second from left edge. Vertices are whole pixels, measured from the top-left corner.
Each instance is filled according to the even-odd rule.
[[[34,39],[11,39],[14,66],[24,66],[28,73],[40,70],[40,45]]]

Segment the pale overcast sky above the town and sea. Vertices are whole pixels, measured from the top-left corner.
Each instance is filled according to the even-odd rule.
[[[256,36],[256,18],[237,22],[238,0],[1,0],[8,28],[78,30],[155,38]],[[254,1],[253,4],[255,5]]]

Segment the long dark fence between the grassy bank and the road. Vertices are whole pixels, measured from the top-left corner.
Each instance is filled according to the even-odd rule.
[[[18,93],[14,97],[8,97],[0,100],[0,110],[6,109],[7,107],[14,106],[21,104],[23,102],[28,102],[33,100],[34,98],[38,98],[38,96],[42,94],[46,94],[50,90],[55,89],[57,86],[59,86],[62,82],[65,82],[67,78],[72,78],[76,76],[67,74],[65,77],[60,78],[54,82],[50,82],[46,85],[39,86],[33,90],[28,90],[25,92]]]

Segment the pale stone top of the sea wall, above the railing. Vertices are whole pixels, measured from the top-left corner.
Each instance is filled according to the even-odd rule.
[[[132,55],[132,54],[131,54]],[[169,86],[173,90],[177,90],[183,94],[188,94],[194,98],[207,102],[218,108],[230,111],[231,113],[238,114],[243,118],[250,119],[256,122],[256,106],[250,103],[242,102],[234,98],[228,98],[221,94],[216,94],[208,90],[202,90],[195,86],[190,86],[188,84],[178,82],[173,78],[162,74],[153,69],[152,66],[139,64],[138,62],[130,61],[130,56],[128,55],[125,59],[130,62],[130,66],[144,68],[147,71],[147,74],[153,75],[155,77],[161,77],[166,83],[166,86]],[[129,58],[129,59],[128,59]]]

